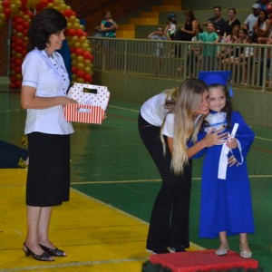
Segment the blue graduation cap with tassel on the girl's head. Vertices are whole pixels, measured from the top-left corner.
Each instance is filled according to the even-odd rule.
[[[206,85],[220,84],[228,86],[229,96],[233,96],[231,85],[231,71],[199,71],[199,80],[206,83]]]

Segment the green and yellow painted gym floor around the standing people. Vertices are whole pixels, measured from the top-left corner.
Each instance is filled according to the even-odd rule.
[[[159,90],[160,92],[162,90]],[[68,257],[37,262],[25,257],[25,177],[17,168],[27,151],[20,144],[25,112],[19,92],[0,86],[0,271],[141,271],[153,201],[160,175],[137,130],[139,103],[111,99],[102,125],[74,123],[72,189],[69,202],[53,210],[50,237]],[[249,235],[253,257],[272,271],[272,130],[249,124],[256,140],[248,154],[256,233]],[[8,162],[7,162],[8,161]],[[201,159],[194,160],[189,250],[217,248],[218,239],[200,239]],[[229,238],[238,251],[238,237]]]

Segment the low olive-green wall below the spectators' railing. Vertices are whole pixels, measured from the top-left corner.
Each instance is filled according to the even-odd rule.
[[[108,86],[111,99],[127,102],[145,102],[151,96],[166,89],[177,87],[180,80],[163,79],[135,74],[115,73],[112,70],[95,71],[93,84]],[[272,128],[272,92],[243,89],[233,86],[234,107],[241,112],[250,125],[260,125]]]

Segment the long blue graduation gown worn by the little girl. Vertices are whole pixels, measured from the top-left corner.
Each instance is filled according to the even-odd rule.
[[[205,153],[201,182],[200,238],[218,238],[220,231],[227,231],[228,235],[254,232],[246,157],[255,134],[238,112],[232,112],[231,126],[236,122],[239,126],[235,138],[240,142],[241,151],[238,148],[231,150],[233,153],[229,151],[228,157],[233,154],[241,164],[228,166],[226,180],[218,179],[222,145],[210,147]],[[227,129],[229,133],[232,127]]]

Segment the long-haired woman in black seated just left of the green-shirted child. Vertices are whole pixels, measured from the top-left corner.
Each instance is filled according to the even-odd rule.
[[[177,41],[191,41],[192,37],[196,35],[196,29],[199,28],[199,20],[191,9],[186,10],[184,16],[184,25],[177,30],[175,35]]]

